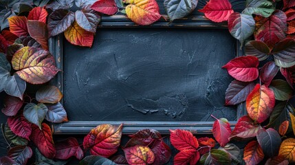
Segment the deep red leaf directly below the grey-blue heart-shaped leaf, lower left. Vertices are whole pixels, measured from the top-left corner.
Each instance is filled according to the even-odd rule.
[[[53,159],[55,157],[56,149],[52,139],[50,126],[42,123],[42,130],[40,130],[39,126],[32,124],[32,135],[30,136],[30,140],[34,142],[42,155],[48,159]]]

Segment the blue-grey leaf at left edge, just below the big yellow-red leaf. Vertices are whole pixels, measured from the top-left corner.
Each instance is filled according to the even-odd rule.
[[[7,78],[4,91],[6,91],[6,94],[9,94],[10,96],[21,98],[21,100],[23,100],[23,93],[25,92],[26,87],[27,84],[25,81],[21,79],[19,75],[14,74],[13,76]]]

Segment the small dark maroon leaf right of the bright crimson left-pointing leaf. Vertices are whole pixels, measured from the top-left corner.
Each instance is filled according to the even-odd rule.
[[[263,65],[261,72],[260,72],[260,79],[261,82],[264,83],[266,87],[272,83],[272,79],[278,73],[280,68],[276,66],[276,63],[270,61]]]

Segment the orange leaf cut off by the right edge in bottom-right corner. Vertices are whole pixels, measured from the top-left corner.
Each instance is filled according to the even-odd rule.
[[[295,162],[295,139],[288,138],[284,140],[281,144],[281,148],[280,148],[280,151],[278,152],[278,155],[281,155],[285,157],[285,159],[288,159],[289,162],[294,163]]]

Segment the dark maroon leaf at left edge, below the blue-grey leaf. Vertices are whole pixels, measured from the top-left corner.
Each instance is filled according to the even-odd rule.
[[[4,108],[2,109],[2,112],[5,115],[17,115],[17,112],[21,107],[23,106],[23,100],[17,97],[13,97],[10,95],[7,95],[4,100]]]

